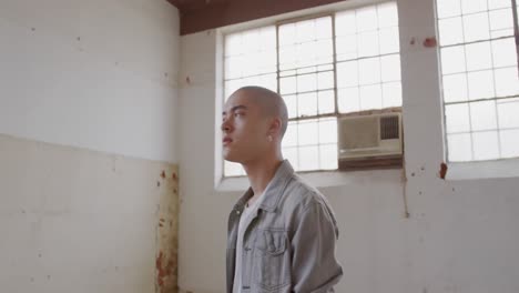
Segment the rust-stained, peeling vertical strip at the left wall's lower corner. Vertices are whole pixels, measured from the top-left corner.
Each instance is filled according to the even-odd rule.
[[[156,214],[155,292],[177,293],[179,272],[179,169],[161,173]],[[164,223],[170,223],[169,225]]]

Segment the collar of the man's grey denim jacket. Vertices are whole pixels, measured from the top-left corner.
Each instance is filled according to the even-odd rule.
[[[279,203],[281,196],[286,189],[289,180],[294,174],[294,168],[292,168],[291,163],[287,160],[284,160],[281,165],[277,168],[274,178],[268,182],[264,194],[258,199],[260,209],[274,212]],[[243,211],[245,204],[247,203],[248,199],[254,195],[252,188],[245,192],[245,194],[237,201],[234,205],[234,210]]]

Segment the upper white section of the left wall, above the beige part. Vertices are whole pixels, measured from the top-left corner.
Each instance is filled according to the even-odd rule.
[[[176,161],[165,0],[1,0],[0,36],[0,133]]]

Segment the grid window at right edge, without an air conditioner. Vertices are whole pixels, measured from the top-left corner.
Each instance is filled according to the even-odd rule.
[[[519,156],[512,2],[437,0],[436,3],[448,160]]]

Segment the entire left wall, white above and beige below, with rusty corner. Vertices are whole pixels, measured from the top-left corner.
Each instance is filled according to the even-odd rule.
[[[174,292],[179,12],[0,1],[0,292]]]

